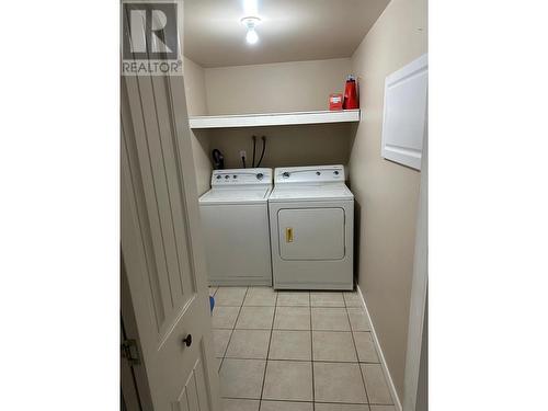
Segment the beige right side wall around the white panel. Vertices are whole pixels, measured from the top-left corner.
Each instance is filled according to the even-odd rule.
[[[385,78],[427,52],[426,0],[392,0],[352,58],[362,122],[350,179],[361,212],[358,285],[399,398],[403,397],[420,173],[380,157]]]

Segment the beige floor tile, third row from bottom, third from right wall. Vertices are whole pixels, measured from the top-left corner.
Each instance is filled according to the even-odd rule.
[[[272,331],[269,359],[311,361],[310,331]]]

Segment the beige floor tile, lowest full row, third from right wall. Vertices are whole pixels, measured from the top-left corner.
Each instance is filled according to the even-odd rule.
[[[269,359],[263,399],[312,401],[312,363]]]

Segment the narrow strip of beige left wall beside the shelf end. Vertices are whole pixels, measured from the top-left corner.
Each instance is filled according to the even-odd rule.
[[[186,57],[184,58],[184,89],[189,115],[207,115],[204,69]],[[202,195],[209,189],[212,175],[209,136],[207,132],[191,130],[191,139],[198,195]]]

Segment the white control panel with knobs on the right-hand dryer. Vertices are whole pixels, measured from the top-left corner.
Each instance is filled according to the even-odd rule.
[[[344,165],[283,167],[274,171],[275,184],[344,183]]]

